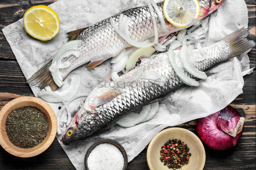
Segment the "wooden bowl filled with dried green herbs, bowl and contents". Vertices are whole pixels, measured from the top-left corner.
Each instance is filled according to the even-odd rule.
[[[44,152],[56,132],[55,113],[41,99],[16,98],[0,111],[0,145],[14,156],[32,157]]]

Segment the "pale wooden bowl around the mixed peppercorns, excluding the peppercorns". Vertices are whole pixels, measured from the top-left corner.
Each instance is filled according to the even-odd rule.
[[[147,164],[151,170],[167,170],[167,166],[160,161],[160,150],[166,141],[177,139],[184,141],[188,145],[189,152],[192,154],[188,164],[182,167],[182,170],[195,169],[200,170],[205,165],[205,149],[200,139],[191,131],[183,128],[168,128],[160,131],[151,140],[147,148]]]

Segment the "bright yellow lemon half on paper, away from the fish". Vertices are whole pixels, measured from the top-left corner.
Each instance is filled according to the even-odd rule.
[[[29,35],[43,41],[54,38],[60,30],[58,15],[45,5],[29,8],[23,16],[23,24]]]

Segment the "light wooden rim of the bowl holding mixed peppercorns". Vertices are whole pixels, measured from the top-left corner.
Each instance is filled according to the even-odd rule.
[[[171,131],[175,131],[175,133],[182,133],[182,132],[186,132],[190,135],[191,138],[193,138],[194,140],[196,140],[196,142],[198,142],[198,144],[200,145],[200,149],[202,149],[203,151],[203,155],[201,155],[201,160],[200,160],[200,165],[198,165],[197,169],[203,169],[205,166],[205,148],[204,145],[202,144],[201,140],[190,130],[184,129],[184,128],[168,128],[168,129],[164,129],[160,132],[158,132],[156,134],[156,136],[154,136],[154,138],[150,141],[148,148],[147,148],[147,165],[148,167],[152,170],[153,165],[151,162],[151,157],[152,157],[152,150],[157,149],[159,150],[159,148],[153,148],[154,143],[159,139],[159,137],[162,135],[162,133],[170,133]],[[186,142],[185,142],[186,143]],[[160,155],[160,154],[159,154]],[[189,164],[188,164],[189,165]],[[186,165],[187,166],[187,165]],[[172,168],[171,168],[172,169]]]

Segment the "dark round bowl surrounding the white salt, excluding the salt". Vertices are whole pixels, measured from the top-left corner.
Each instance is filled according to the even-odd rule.
[[[88,165],[87,165],[87,160],[88,160],[88,156],[90,155],[91,151],[97,147],[99,144],[101,143],[110,143],[112,145],[115,145],[116,147],[118,147],[118,149],[121,151],[121,153],[123,154],[123,157],[124,157],[124,167],[123,167],[123,170],[125,170],[127,168],[127,163],[128,163],[128,157],[127,157],[127,154],[126,154],[126,151],[124,150],[124,147],[114,141],[114,140],[111,140],[111,139],[102,139],[102,140],[99,140],[97,142],[94,142],[87,150],[86,154],[85,154],[85,157],[84,157],[84,167],[86,170],[89,170],[88,168]],[[114,170],[114,169],[113,169]]]

